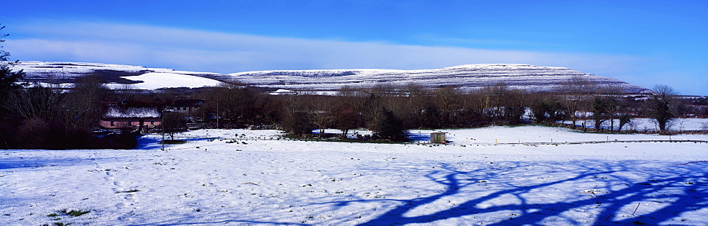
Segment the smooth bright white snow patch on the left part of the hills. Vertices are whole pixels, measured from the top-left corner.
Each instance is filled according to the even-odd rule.
[[[139,76],[123,77],[133,81],[142,81],[139,84],[132,84],[137,89],[161,89],[161,88],[199,88],[204,86],[217,86],[220,81],[196,77],[188,74],[174,74],[149,72]]]

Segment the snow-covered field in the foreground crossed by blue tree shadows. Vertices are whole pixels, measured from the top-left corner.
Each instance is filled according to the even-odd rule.
[[[492,127],[430,145],[428,132],[373,144],[198,130],[166,150],[156,135],[133,150],[0,150],[0,225],[708,225],[708,143],[566,144],[708,135]]]

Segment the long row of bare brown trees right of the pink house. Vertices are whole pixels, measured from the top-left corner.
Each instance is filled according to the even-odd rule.
[[[312,136],[317,130],[316,136],[322,136],[326,128],[346,135],[349,130],[366,128],[388,140],[405,140],[404,130],[413,128],[554,124],[559,120],[569,120],[573,127],[588,118],[594,130],[610,131],[627,130],[632,118],[653,118],[659,132],[666,132],[673,118],[708,115],[708,109],[675,98],[668,86],[657,86],[655,92],[627,96],[620,86],[600,86],[583,77],[572,77],[554,92],[528,92],[505,84],[474,91],[409,84],[344,86],[327,96],[309,91],[272,96],[225,84],[201,96],[205,106],[195,115],[216,113],[222,118],[221,127],[278,124],[295,136]]]

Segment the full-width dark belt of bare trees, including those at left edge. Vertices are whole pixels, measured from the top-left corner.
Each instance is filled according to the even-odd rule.
[[[0,43],[5,37],[0,37]],[[297,137],[322,137],[326,128],[339,129],[346,137],[350,130],[366,128],[374,132],[373,139],[393,141],[406,140],[405,131],[413,128],[553,124],[559,120],[569,120],[575,127],[586,118],[592,119],[595,130],[623,130],[632,118],[653,118],[659,132],[666,132],[674,118],[708,117],[706,98],[675,98],[668,86],[656,86],[649,96],[627,96],[620,86],[600,86],[581,76],[571,77],[553,92],[530,92],[506,84],[472,91],[409,84],[343,86],[328,96],[311,91],[274,96],[232,81],[217,87],[142,93],[131,86],[108,89],[101,77],[91,75],[77,78],[70,87],[22,86],[16,81],[24,73],[11,69],[14,62],[8,56],[0,48],[0,147],[4,149],[135,147],[130,135],[113,140],[97,140],[93,135],[105,103],[128,101],[164,109],[180,98],[204,101],[190,115],[169,113],[165,128],[179,130],[172,124],[184,127],[186,116],[202,128],[280,125]]]

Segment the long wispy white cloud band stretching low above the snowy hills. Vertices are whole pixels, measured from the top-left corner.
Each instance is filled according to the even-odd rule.
[[[221,73],[522,63],[603,74],[638,61],[617,55],[309,40],[111,23],[33,23],[16,30],[32,37],[7,41],[7,50],[20,60],[107,62]]]

